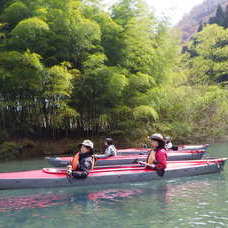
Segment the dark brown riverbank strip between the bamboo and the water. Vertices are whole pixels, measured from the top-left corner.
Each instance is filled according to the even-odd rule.
[[[11,139],[0,144],[0,161],[15,160],[15,159],[30,159],[40,158],[44,156],[54,155],[71,155],[77,150],[77,145],[82,142],[83,138],[63,138],[61,140],[31,140],[27,138]],[[103,137],[91,138],[95,144],[96,152],[102,153],[104,150]],[[200,143],[226,143],[228,142],[228,136],[223,136],[217,139],[211,139],[210,141],[194,141],[189,144]],[[127,139],[116,139],[115,144],[117,148],[127,147],[143,147],[148,143],[143,139],[137,141]],[[183,144],[184,142],[176,142],[176,144]]]

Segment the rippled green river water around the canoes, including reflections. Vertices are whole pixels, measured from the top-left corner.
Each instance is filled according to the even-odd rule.
[[[209,156],[228,157],[228,144]],[[44,160],[0,163],[37,169]],[[0,191],[0,228],[228,227],[228,163],[220,174],[137,184]]]

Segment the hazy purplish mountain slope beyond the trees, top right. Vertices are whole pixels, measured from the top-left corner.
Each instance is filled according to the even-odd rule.
[[[206,0],[183,17],[177,28],[182,31],[182,40],[184,42],[191,38],[201,23],[208,22],[209,18],[215,15],[218,4],[225,8],[228,5],[228,0]]]

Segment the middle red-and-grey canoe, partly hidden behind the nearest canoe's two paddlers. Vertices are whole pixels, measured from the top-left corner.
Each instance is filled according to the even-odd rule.
[[[168,153],[168,161],[181,161],[181,160],[199,160],[205,155],[205,151],[195,151],[192,153]],[[138,161],[145,161],[146,155],[136,155],[136,156],[123,156],[119,157],[110,157],[107,159],[98,159],[96,161],[96,166],[105,166],[105,165],[124,165],[124,164],[136,164]],[[69,165],[71,158],[58,158],[58,157],[47,157],[48,162],[55,167],[66,167]]]

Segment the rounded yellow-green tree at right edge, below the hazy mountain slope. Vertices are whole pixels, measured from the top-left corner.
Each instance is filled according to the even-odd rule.
[[[211,84],[227,74],[228,30],[218,25],[208,25],[197,33],[190,46],[195,55],[189,61],[190,80]]]

